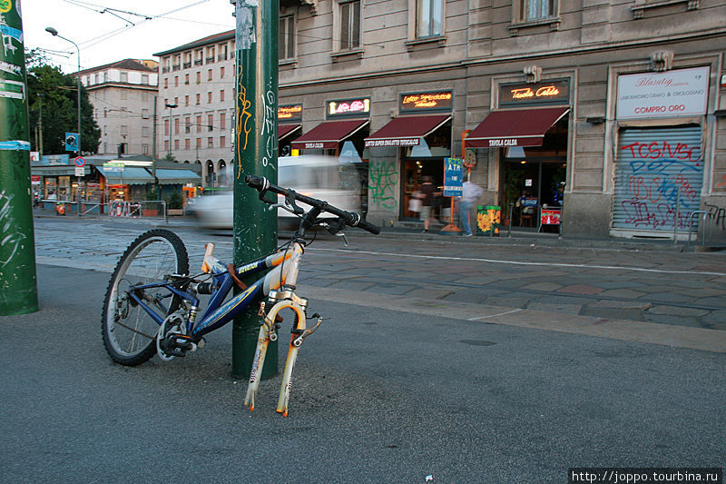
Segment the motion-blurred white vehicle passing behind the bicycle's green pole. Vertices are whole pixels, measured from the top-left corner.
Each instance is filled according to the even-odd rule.
[[[313,154],[284,156],[278,159],[277,184],[348,212],[366,209],[368,174],[362,163],[345,163],[331,156]],[[201,227],[231,229],[232,199],[230,191],[202,196],[195,201],[194,211]],[[309,209],[302,203],[299,206],[306,211]],[[296,228],[298,218],[278,209],[278,221],[280,229]]]

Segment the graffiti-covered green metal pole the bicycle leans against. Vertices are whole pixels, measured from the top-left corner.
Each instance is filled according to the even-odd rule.
[[[256,190],[244,183],[248,174],[277,183],[278,166],[278,30],[279,2],[237,0],[236,114],[234,155],[234,262],[241,264],[277,247],[277,212],[268,210]],[[270,194],[268,195],[270,197]],[[259,276],[258,276],[259,277]],[[251,283],[253,281],[245,281]],[[248,376],[260,331],[258,308],[234,320],[232,375]],[[277,343],[270,342],[261,378],[278,372]]]

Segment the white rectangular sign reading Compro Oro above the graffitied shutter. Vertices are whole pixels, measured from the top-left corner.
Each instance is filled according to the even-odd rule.
[[[618,76],[617,119],[706,114],[709,67]]]

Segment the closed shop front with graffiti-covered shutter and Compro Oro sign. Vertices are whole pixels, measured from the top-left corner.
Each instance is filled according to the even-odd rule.
[[[618,76],[611,234],[696,231],[709,79],[708,66]]]

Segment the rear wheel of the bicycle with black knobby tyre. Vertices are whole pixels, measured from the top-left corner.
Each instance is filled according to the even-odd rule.
[[[129,291],[143,284],[164,282],[164,276],[173,273],[189,273],[186,247],[174,232],[144,232],[123,252],[106,290],[101,322],[103,346],[113,361],[135,366],[152,358],[159,324],[129,297]],[[177,311],[182,302],[163,287],[135,293],[164,315]]]

